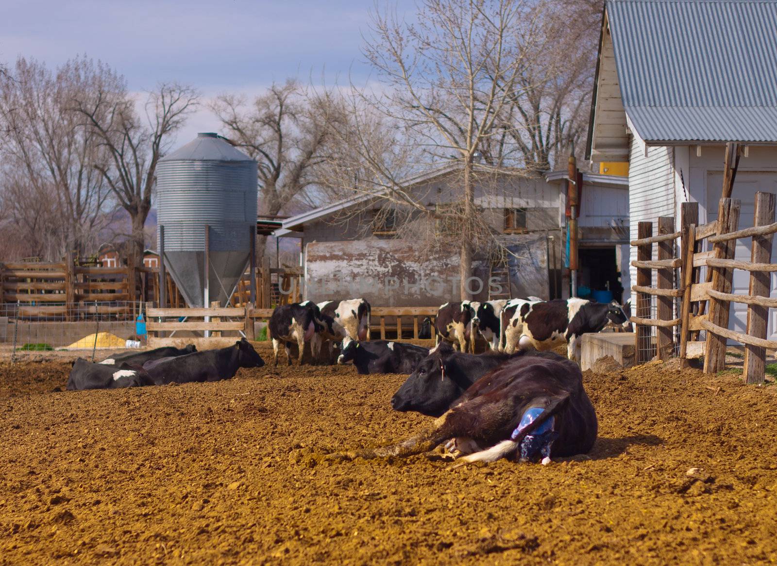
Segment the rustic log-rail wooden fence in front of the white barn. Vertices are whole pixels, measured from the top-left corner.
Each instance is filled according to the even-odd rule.
[[[768,309],[777,308],[777,299],[769,297],[771,290],[769,273],[777,272],[772,263],[772,238],[777,232],[775,223],[775,195],[756,193],[753,227],[738,230],[740,216],[739,200],[723,198],[718,206],[717,220],[699,225],[698,203],[683,203],[681,207],[681,230],[674,231],[671,219],[659,219],[659,234],[650,234],[650,223],[639,224],[639,238],[632,241],[638,250],[636,266],[637,281],[632,287],[637,303],[646,296],[656,296],[659,301],[656,318],[646,318],[637,311],[632,321],[636,324],[636,341],[644,340],[648,326],[657,327],[657,356],[667,357],[673,346],[671,328],[680,326],[678,333],[678,356],[684,366],[688,358],[699,351],[704,352],[704,371],[717,373],[725,368],[726,340],[740,342],[745,346],[744,375],[747,383],[763,383],[765,375],[766,349],[777,349],[777,341],[767,340]],[[643,225],[644,224],[644,225]],[[674,255],[679,238],[680,257]],[[751,238],[751,261],[735,259],[737,240]],[[659,248],[659,259],[653,261],[652,245]],[[650,248],[649,248],[650,246]],[[664,257],[668,255],[669,257]],[[681,267],[677,288],[671,276],[660,270]],[[650,285],[649,272],[641,269],[659,269],[657,286]],[[741,269],[750,273],[747,295],[732,293],[733,273]],[[704,281],[702,281],[702,276]],[[681,298],[677,316],[666,307],[666,300]],[[661,300],[664,299],[664,307]],[[730,304],[747,304],[746,332],[735,332],[729,328]],[[669,329],[666,332],[665,329]],[[664,331],[664,332],[661,332]],[[706,339],[699,341],[700,332],[706,332]],[[645,360],[638,360],[645,361]]]

